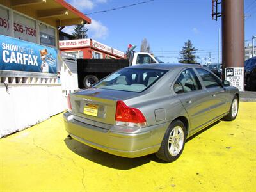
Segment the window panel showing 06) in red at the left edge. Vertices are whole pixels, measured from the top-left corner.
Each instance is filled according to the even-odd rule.
[[[0,34],[11,36],[9,11],[0,6]]]

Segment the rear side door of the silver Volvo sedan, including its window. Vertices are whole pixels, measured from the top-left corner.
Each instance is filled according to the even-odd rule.
[[[200,129],[209,121],[208,99],[210,94],[207,90],[202,89],[202,85],[192,68],[186,68],[179,74],[173,84],[173,92],[188,113],[189,134]]]

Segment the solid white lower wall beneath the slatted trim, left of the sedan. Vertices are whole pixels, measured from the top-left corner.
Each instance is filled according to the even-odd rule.
[[[61,84],[0,85],[0,138],[67,109]]]

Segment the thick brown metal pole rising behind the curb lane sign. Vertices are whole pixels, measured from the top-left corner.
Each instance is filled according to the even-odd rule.
[[[226,67],[244,67],[244,0],[223,0],[222,63]]]

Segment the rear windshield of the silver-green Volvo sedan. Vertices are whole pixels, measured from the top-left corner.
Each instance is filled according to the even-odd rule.
[[[167,70],[123,68],[95,84],[94,88],[143,92],[152,86]]]

